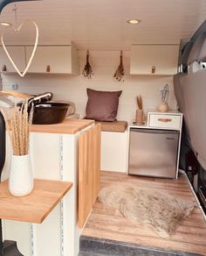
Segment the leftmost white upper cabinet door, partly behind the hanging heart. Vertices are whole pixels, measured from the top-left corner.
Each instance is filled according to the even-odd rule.
[[[20,72],[24,71],[25,68],[25,49],[24,46],[6,46],[7,51],[10,53],[10,57],[15,62],[17,68]],[[4,69],[4,70],[3,70]],[[3,47],[0,47],[0,72],[16,72],[10,63],[9,58],[3,50]]]

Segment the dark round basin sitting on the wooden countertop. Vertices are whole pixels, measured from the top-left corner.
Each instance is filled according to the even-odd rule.
[[[65,119],[67,103],[37,103],[34,106],[32,124],[59,124]]]

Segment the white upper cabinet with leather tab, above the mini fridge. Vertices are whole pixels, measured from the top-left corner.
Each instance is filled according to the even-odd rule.
[[[131,75],[175,75],[179,46],[134,45],[130,58]]]

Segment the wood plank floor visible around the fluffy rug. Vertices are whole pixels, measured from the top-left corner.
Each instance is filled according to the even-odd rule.
[[[155,188],[168,191],[169,194],[174,196],[193,196],[184,175],[174,181],[101,172],[101,187],[103,188],[114,181],[128,181],[131,179],[135,179],[139,188]],[[103,205],[97,200],[83,235],[206,255],[206,223],[199,208],[192,211],[171,238],[163,239],[147,227],[141,224],[133,224],[127,218],[121,217],[116,210]]]

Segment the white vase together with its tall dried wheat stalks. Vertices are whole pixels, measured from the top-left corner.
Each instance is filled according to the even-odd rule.
[[[30,126],[32,123],[31,108],[28,111],[28,100],[21,106],[10,109],[10,120],[3,110],[13,154],[10,162],[9,190],[13,196],[26,196],[33,189],[33,174],[29,154]]]

